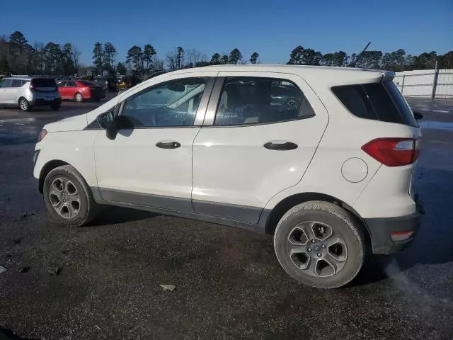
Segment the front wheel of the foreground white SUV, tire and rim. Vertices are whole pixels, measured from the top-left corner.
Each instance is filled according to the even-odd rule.
[[[88,184],[70,165],[59,166],[47,174],[42,195],[50,215],[62,225],[85,225],[98,212]]]

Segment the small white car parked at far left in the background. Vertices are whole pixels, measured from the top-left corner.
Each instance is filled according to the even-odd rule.
[[[0,83],[0,105],[18,106],[28,111],[33,106],[58,110],[62,102],[53,78],[8,77]]]

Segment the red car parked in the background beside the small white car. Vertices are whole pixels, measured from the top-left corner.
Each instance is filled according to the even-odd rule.
[[[105,88],[93,81],[86,80],[64,80],[57,84],[59,95],[62,99],[73,99],[81,103],[82,101],[100,101],[105,97]]]

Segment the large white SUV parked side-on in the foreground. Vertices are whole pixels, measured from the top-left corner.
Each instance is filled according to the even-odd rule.
[[[274,235],[290,276],[354,278],[420,226],[421,132],[392,72],[282,65],[162,74],[45,125],[34,176],[50,214],[118,205]]]

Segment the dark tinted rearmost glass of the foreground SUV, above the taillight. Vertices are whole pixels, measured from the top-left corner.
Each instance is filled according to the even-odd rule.
[[[334,86],[332,91],[350,113],[357,117],[418,126],[393,81]]]

